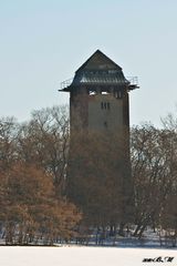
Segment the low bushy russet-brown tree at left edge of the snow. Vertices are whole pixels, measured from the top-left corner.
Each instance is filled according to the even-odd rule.
[[[0,177],[7,244],[29,244],[39,237],[52,244],[58,237],[71,237],[81,214],[74,205],[55,197],[50,174],[34,165],[15,164]]]

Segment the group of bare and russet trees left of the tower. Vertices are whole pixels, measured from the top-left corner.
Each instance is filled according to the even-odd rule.
[[[27,123],[0,120],[0,223],[7,244],[53,244],[74,236],[81,212],[63,193],[69,116],[34,111]]]

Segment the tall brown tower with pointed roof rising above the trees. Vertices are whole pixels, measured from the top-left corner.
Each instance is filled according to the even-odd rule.
[[[73,80],[62,82],[60,90],[70,92],[71,142],[75,140],[72,139],[75,132],[85,134],[96,132],[101,136],[108,136],[110,145],[113,146],[118,139],[124,146],[121,153],[121,164],[115,174],[122,180],[121,190],[126,195],[124,205],[129,204],[131,207],[133,181],[129,160],[128,92],[136,88],[137,78],[126,79],[122,68],[97,50],[80,66]],[[117,154],[119,154],[118,149]],[[72,157],[72,153],[70,156]],[[69,176],[73,187],[72,167]],[[75,187],[76,194],[79,190]]]

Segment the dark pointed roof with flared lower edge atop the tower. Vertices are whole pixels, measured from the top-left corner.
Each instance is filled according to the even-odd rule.
[[[72,91],[82,85],[116,85],[129,86],[131,82],[125,79],[122,68],[103,52],[96,50],[75,72],[72,81],[62,83],[61,91]],[[134,89],[136,85],[133,85]],[[129,88],[131,89],[131,88]]]

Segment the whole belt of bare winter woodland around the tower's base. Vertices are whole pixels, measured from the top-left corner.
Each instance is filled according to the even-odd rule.
[[[176,245],[176,116],[168,114],[160,127],[142,123],[131,129],[134,203],[126,217],[124,195],[117,190],[118,172],[115,175],[124,150],[117,136],[113,146],[95,134],[81,136],[80,145],[70,137],[67,106],[33,111],[24,123],[0,119],[0,233],[4,243],[82,244],[97,232],[102,239],[107,233],[124,237],[125,232],[140,239],[150,226],[159,235],[165,232]],[[76,192],[67,185],[70,165]]]

